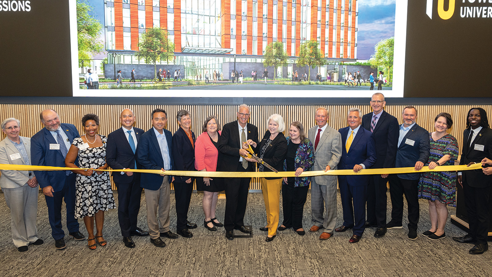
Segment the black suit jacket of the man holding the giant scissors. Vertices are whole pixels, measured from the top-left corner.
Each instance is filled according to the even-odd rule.
[[[246,139],[258,143],[258,128],[247,123]],[[238,121],[229,122],[222,127],[222,134],[218,140],[218,150],[224,154],[222,160],[217,162],[217,171],[233,172],[238,169],[239,149],[242,148],[241,136],[238,129]],[[247,171],[253,171],[254,165],[248,162]]]

